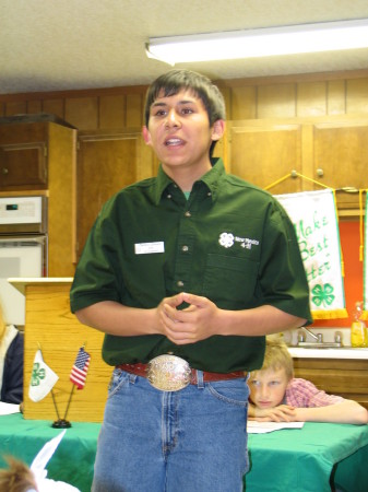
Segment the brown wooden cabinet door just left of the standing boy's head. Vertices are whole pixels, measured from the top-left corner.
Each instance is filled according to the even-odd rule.
[[[78,258],[105,201],[121,188],[155,175],[157,165],[140,131],[79,136]]]

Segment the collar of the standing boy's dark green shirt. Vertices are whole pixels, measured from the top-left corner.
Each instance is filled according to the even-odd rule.
[[[225,166],[219,157],[211,157],[211,164],[212,169],[210,169],[207,173],[205,173],[199,183],[203,183],[209,190],[211,191],[212,200],[216,198],[216,194],[219,187],[219,183],[222,177],[226,174],[225,173]],[[156,186],[155,186],[155,203],[158,204],[161,201],[161,198],[164,194],[164,191],[167,189],[167,187],[173,184],[173,179],[167,176],[165,171],[163,169],[163,166],[159,165],[157,178],[156,178]]]

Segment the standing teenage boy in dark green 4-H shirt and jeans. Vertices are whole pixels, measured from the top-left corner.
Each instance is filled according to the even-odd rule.
[[[94,492],[240,492],[247,378],[264,335],[311,320],[297,239],[269,194],[212,159],[225,105],[205,77],[173,70],[147,91],[155,178],[103,208],[71,290],[116,366]]]

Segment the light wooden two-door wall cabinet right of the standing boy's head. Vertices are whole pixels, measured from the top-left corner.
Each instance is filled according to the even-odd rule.
[[[343,214],[357,214],[358,190],[367,188],[367,117],[321,117],[230,122],[228,169],[287,194],[336,189]]]

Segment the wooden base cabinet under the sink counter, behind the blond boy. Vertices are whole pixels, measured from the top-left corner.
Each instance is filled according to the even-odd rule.
[[[293,358],[295,377],[319,389],[356,400],[368,409],[368,360]]]

